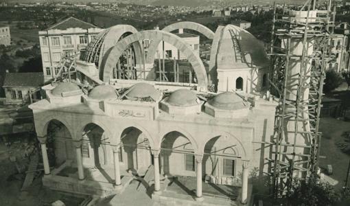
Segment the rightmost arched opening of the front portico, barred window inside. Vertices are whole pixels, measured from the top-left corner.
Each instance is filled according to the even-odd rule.
[[[202,160],[203,190],[209,194],[228,196],[236,200],[242,185],[242,161],[237,144],[230,137],[213,137],[205,144]]]

